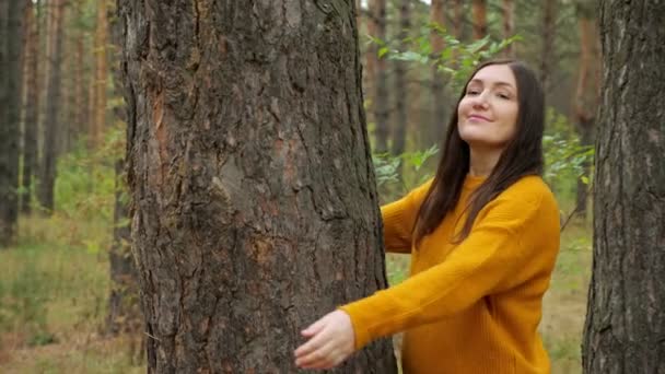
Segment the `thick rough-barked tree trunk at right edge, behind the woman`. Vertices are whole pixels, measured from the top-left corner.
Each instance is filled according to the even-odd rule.
[[[665,373],[665,2],[599,2],[585,373]]]

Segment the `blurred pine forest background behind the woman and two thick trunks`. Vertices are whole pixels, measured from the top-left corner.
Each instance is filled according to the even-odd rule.
[[[143,372],[116,4],[2,0],[0,7],[8,51],[1,74],[10,87],[0,145],[8,164],[19,165],[3,176],[19,186],[13,204],[0,209],[0,371]],[[538,71],[547,100],[545,177],[563,222],[540,328],[553,373],[581,372],[600,89],[595,3],[357,0],[357,7],[382,203],[432,175],[460,81],[477,61],[516,57]],[[407,276],[408,259],[388,256],[387,267],[394,284]]]

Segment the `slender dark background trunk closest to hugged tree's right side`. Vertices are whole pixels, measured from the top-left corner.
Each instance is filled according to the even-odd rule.
[[[386,0],[372,0],[370,12],[376,22],[376,34],[373,35],[386,42]],[[376,59],[376,77],[374,79],[374,120],[376,125],[376,142],[374,150],[378,153],[388,151],[389,109],[388,109],[388,74],[386,59]]]

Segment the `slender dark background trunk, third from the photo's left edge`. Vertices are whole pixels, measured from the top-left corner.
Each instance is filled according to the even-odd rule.
[[[54,187],[56,184],[56,157],[58,151],[60,116],[60,81],[62,61],[62,0],[52,0],[48,11],[51,20],[49,33],[50,57],[46,87],[46,118],[44,121],[44,151],[39,172],[39,203],[47,211],[54,209]]]

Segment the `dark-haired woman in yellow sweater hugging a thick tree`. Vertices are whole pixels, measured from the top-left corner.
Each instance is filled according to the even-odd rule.
[[[490,61],[472,73],[433,180],[382,208],[386,250],[411,253],[409,279],[303,330],[296,365],[332,367],[405,331],[408,374],[549,373],[537,327],[559,210],[539,176],[544,112],[523,63]]]

